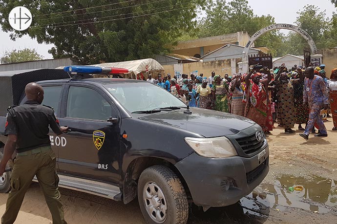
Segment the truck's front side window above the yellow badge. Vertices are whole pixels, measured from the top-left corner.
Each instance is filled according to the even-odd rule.
[[[106,121],[112,114],[110,104],[93,89],[70,86],[67,100],[67,117]]]

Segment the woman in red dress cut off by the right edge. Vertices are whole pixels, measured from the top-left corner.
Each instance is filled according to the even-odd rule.
[[[337,69],[332,70],[330,80],[327,80],[327,87],[329,89],[329,101],[334,122],[332,131],[337,131]]]

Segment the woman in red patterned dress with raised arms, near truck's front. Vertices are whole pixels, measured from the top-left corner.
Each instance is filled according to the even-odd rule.
[[[245,117],[253,120],[261,126],[266,134],[269,134],[273,130],[272,108],[268,97],[268,84],[272,80],[272,76],[269,73],[267,79],[261,80],[261,74],[253,74],[253,72],[255,69],[245,78],[245,97],[247,97]]]

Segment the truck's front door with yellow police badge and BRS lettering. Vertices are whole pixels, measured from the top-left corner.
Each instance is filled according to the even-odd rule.
[[[119,182],[120,115],[99,88],[68,83],[62,100],[60,125],[71,132],[59,148],[60,172],[90,179]],[[108,122],[109,117],[118,123]]]

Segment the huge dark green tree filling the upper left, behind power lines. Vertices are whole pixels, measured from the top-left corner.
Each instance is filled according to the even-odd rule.
[[[152,57],[192,29],[192,19],[204,0],[0,0],[0,14],[8,18],[16,6],[27,7],[32,25],[13,31],[2,19],[5,32],[39,43],[53,43],[54,58],[72,56],[84,63]]]

